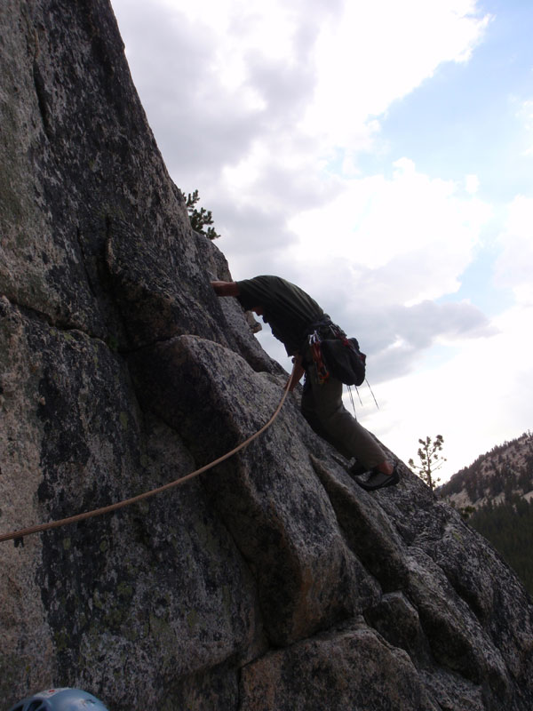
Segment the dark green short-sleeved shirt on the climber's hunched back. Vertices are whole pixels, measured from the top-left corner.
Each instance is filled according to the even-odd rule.
[[[281,276],[254,276],[237,282],[237,299],[246,310],[263,309],[263,321],[270,324],[276,339],[281,340],[289,356],[302,348],[310,325],[321,321],[322,308],[309,294]]]

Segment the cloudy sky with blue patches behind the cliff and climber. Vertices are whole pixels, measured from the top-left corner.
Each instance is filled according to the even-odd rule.
[[[532,428],[530,0],[112,4],[233,278],[283,276],[360,341],[362,424],[404,461],[442,435],[442,481]]]

